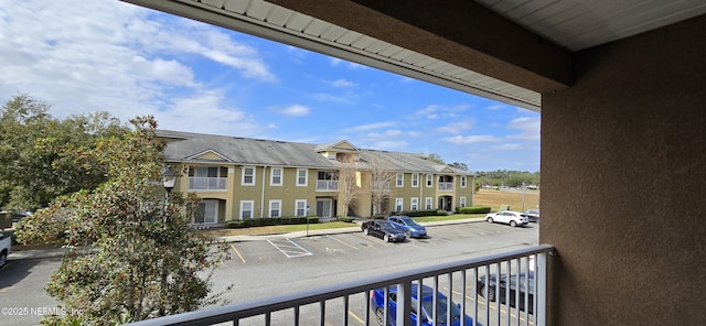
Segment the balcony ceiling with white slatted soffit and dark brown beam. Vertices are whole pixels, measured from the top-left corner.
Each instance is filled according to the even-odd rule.
[[[571,53],[706,13],[704,0],[124,1],[534,111],[541,93],[571,84]],[[379,31],[379,18],[398,33]],[[431,34],[446,41],[438,51],[415,46]],[[459,55],[459,44],[475,52]],[[489,57],[518,69],[498,68]]]

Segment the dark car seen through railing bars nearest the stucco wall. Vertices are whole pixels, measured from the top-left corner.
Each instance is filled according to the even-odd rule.
[[[490,281],[486,281],[490,280]],[[488,301],[495,302],[498,300],[498,295],[495,293],[495,284],[498,281],[495,280],[495,275],[490,275],[490,278],[481,276],[478,280],[478,294],[481,296],[485,296],[485,284],[488,285]],[[534,314],[534,272],[522,272],[520,273],[520,309],[525,311],[525,289],[527,289],[527,303],[530,306],[528,313]],[[506,304],[506,289],[507,289],[507,274],[500,275],[500,303]],[[510,306],[515,307],[515,296],[517,295],[517,274],[510,275]]]

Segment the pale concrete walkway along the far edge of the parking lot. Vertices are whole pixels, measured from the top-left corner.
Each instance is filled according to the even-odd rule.
[[[467,218],[467,219],[440,220],[440,221],[429,221],[429,222],[419,222],[419,224],[425,227],[434,227],[434,226],[457,225],[457,224],[468,224],[468,222],[479,222],[479,221],[485,221],[485,218],[475,217],[475,218]],[[276,233],[276,235],[228,236],[228,237],[220,237],[217,238],[217,240],[222,240],[225,242],[243,242],[243,241],[260,241],[260,240],[274,240],[274,239],[286,239],[286,238],[353,233],[353,232],[361,231],[361,226],[360,226],[361,224],[362,221],[356,221],[356,226],[350,227],[350,228],[321,229],[321,230],[309,230],[309,231],[304,230],[304,231]],[[20,249],[20,250],[18,249],[12,250],[12,253],[8,256],[8,260],[11,261],[11,260],[20,260],[20,259],[61,258],[64,256],[64,252],[66,251],[66,249],[64,248]]]

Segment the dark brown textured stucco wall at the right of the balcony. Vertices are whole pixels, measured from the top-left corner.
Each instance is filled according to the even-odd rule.
[[[550,325],[706,325],[704,31],[581,52],[576,85],[543,95]]]

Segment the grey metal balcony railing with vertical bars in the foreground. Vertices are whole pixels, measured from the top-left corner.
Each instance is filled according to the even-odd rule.
[[[395,325],[410,326],[418,325],[413,324],[411,312],[421,311],[420,301],[411,298],[419,297],[418,291],[413,293],[411,289],[420,286],[413,287],[413,284],[422,284],[434,290],[431,302],[437,304],[430,307],[443,307],[428,311],[428,319],[441,320],[440,316],[452,315],[452,305],[440,304],[446,296],[458,304],[461,316],[467,315],[477,325],[543,326],[546,325],[546,258],[553,251],[549,244],[533,246],[132,325],[214,325],[225,322],[228,325],[377,325],[378,316],[384,318],[383,325],[388,325],[388,317],[396,316]],[[483,286],[489,279],[493,286]],[[505,286],[513,281],[515,285]],[[517,287],[520,295],[516,295]],[[379,309],[371,302],[375,289],[383,289],[384,293]],[[396,306],[391,305],[392,292],[396,292]],[[485,298],[491,292],[494,300],[489,302]],[[462,317],[457,320],[458,325],[471,324],[464,323]]]

